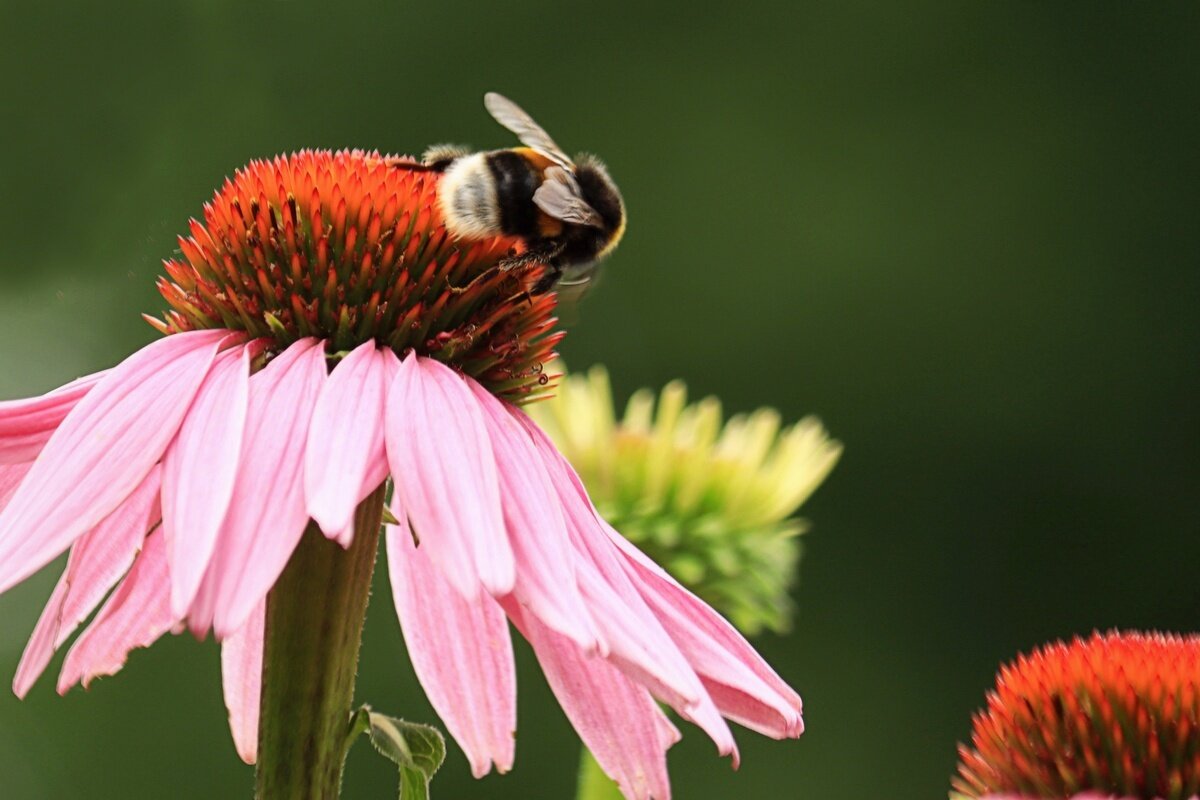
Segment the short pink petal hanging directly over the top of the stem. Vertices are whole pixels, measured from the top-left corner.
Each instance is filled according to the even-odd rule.
[[[347,530],[353,536],[354,509],[388,477],[383,417],[389,377],[383,351],[365,342],[342,359],[317,398],[305,452],[305,497],[308,515],[331,539]],[[341,543],[348,547],[349,537]]]

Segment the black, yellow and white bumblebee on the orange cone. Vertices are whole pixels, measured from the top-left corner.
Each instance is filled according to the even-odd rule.
[[[420,164],[396,166],[442,174],[438,205],[451,236],[517,236],[526,247],[502,269],[545,264],[548,270],[532,291],[582,294],[625,233],[620,192],[599,160],[569,158],[511,100],[487,92],[484,106],[524,146],[473,152],[437,145]]]

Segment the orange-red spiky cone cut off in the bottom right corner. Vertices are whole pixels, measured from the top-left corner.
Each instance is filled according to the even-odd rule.
[[[953,782],[960,798],[1195,798],[1200,637],[1044,645],[1001,668],[972,728]]]

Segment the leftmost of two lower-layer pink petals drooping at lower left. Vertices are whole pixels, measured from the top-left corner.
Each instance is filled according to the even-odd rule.
[[[12,686],[17,697],[25,697],[50,663],[54,651],[130,569],[146,531],[157,522],[160,475],[155,467],[116,511],[72,546],[62,577],[17,666]]]

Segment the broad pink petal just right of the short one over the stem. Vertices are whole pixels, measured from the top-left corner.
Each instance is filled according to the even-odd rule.
[[[434,566],[463,597],[512,591],[496,459],[479,402],[449,367],[416,355],[388,390],[388,462]]]

